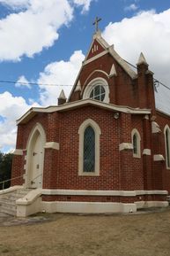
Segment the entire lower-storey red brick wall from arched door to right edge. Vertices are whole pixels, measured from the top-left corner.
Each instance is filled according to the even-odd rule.
[[[100,176],[78,175],[78,129],[91,118],[100,126]],[[164,129],[170,120],[158,114],[157,121]],[[165,156],[164,134],[152,134],[150,120],[143,115],[114,112],[94,106],[85,106],[67,112],[37,114],[27,125],[18,128],[19,149],[26,149],[30,132],[40,122],[47,134],[47,141],[60,144],[60,150],[45,150],[43,188],[68,190],[169,190],[170,170],[166,162],[153,162],[153,154]],[[148,125],[145,125],[148,122]],[[144,127],[150,128],[144,130]],[[131,131],[137,128],[141,136],[141,158],[133,158],[132,150],[119,151],[119,144],[131,143]],[[19,137],[19,134],[21,136]],[[150,136],[148,136],[148,134]],[[151,136],[152,135],[152,136]],[[156,142],[160,144],[157,145]],[[148,140],[150,138],[150,143]],[[152,156],[143,156],[144,148],[150,148]],[[153,146],[155,148],[153,148]],[[148,161],[144,159],[148,158]],[[12,177],[25,173],[25,156],[14,156]],[[150,164],[148,164],[150,163]],[[19,184],[23,181],[13,181]]]

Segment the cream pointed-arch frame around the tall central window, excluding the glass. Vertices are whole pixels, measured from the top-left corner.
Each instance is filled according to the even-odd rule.
[[[91,126],[95,133],[95,169],[94,172],[84,171],[84,135],[85,128]],[[79,134],[79,160],[78,175],[81,176],[99,176],[100,175],[100,134],[99,125],[92,119],[85,120],[78,129]]]

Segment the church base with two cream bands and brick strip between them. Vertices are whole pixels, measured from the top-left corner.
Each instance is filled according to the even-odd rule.
[[[135,213],[139,208],[165,207],[164,190],[42,190],[47,213]]]

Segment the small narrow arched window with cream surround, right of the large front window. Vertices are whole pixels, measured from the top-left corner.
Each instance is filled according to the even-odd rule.
[[[136,128],[131,132],[132,145],[133,145],[133,157],[141,158],[141,137]]]

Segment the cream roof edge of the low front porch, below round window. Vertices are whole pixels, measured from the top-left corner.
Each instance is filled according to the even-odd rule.
[[[92,106],[104,108],[108,111],[113,111],[113,112],[126,112],[131,114],[150,114],[151,113],[150,109],[132,108],[132,107],[123,106],[123,105],[107,104],[94,99],[83,99],[83,100],[78,100],[78,101],[74,101],[71,103],[63,104],[63,105],[57,105],[57,106],[32,107],[21,118],[17,120],[17,124],[25,124],[27,121],[31,120],[33,116],[35,116],[39,112],[43,112],[43,113],[64,112],[72,109],[78,109],[79,107],[83,107],[86,105],[92,105]]]

